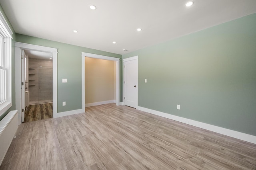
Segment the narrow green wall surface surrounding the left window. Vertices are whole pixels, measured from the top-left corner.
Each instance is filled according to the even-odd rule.
[[[15,39],[16,34],[14,32],[14,29],[12,28],[12,25],[10,24],[10,21],[6,17],[4,10],[2,6],[0,5],[0,11],[3,14],[5,20],[7,21],[9,27],[12,29],[13,35],[12,35],[12,107],[8,109],[3,115],[0,116],[0,121],[9,113],[11,110],[15,110]]]

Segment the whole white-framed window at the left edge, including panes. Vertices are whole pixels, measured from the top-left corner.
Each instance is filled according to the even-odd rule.
[[[0,116],[12,106],[12,31],[0,12]]]

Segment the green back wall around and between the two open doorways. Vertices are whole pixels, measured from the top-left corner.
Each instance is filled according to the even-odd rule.
[[[16,34],[16,41],[58,49],[58,113],[82,108],[82,52],[122,58],[122,55],[114,53],[30,37],[18,33]],[[62,83],[62,78],[67,78],[67,83]],[[120,78],[122,78],[122,74]],[[121,85],[122,82],[120,82]],[[122,88],[120,89],[121,96]],[[66,102],[66,106],[62,106],[62,102],[64,101]]]

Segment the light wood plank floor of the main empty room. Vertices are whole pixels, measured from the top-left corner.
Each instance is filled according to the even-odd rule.
[[[0,170],[256,170],[256,145],[106,104],[22,123]]]

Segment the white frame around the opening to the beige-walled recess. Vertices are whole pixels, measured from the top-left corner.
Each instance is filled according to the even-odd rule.
[[[120,59],[119,58],[115,58],[115,57],[108,57],[108,56],[104,56],[104,55],[98,55],[98,54],[91,54],[91,53],[84,53],[82,52],[82,109],[85,110],[85,84],[84,84],[84,80],[85,80],[85,58],[84,57],[90,57],[90,58],[94,58],[94,59],[103,59],[103,60],[110,60],[110,61],[115,61],[116,62],[116,106],[120,105],[120,90],[119,90],[119,72],[120,72]]]

